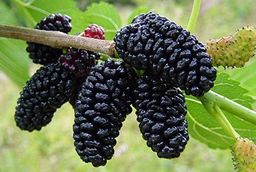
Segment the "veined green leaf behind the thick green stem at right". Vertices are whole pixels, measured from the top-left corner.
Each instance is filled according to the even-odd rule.
[[[242,88],[238,81],[230,78],[230,75],[218,73],[212,91],[223,95],[242,106],[252,109],[253,99],[246,95],[248,91]],[[195,139],[207,144],[211,148],[227,149],[235,142],[224,130],[215,122],[204,109],[202,103],[193,96],[186,96],[188,109],[187,120],[189,122],[189,133]],[[256,126],[241,118],[224,112],[230,124],[240,136],[252,137],[256,139]]]

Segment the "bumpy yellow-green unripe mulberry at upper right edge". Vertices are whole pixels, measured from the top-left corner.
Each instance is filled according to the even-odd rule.
[[[234,36],[207,41],[205,47],[213,59],[213,66],[244,67],[256,53],[256,29],[243,27]]]

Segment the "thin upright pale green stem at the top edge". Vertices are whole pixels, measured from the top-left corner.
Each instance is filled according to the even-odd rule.
[[[193,33],[195,26],[196,26],[196,20],[198,18],[199,9],[201,5],[201,0],[194,0],[192,12],[189,18],[189,24],[187,25],[187,30],[190,31],[190,33]]]

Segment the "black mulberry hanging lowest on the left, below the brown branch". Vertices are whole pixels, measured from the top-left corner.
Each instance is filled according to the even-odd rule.
[[[60,62],[41,67],[27,81],[18,98],[15,121],[21,130],[41,130],[51,122],[54,112],[74,92],[74,80]]]

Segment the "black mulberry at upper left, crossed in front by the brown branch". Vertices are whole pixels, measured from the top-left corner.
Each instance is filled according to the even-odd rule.
[[[40,23],[35,26],[35,29],[60,31],[68,33],[71,30],[71,17],[61,14],[51,14],[48,17],[43,18]],[[34,63],[46,65],[51,62],[55,62],[62,54],[61,49],[49,47],[47,45],[36,44],[33,42],[27,42],[27,51],[29,57]]]

